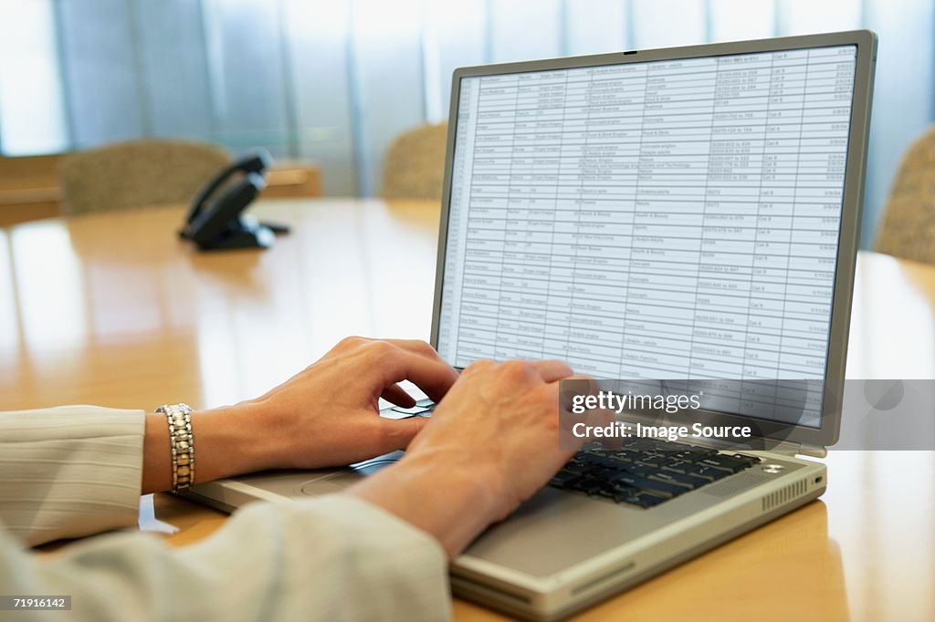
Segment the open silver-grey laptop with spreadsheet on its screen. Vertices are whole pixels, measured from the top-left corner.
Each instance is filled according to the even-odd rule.
[[[742,448],[583,448],[453,560],[456,594],[562,618],[824,492],[826,467],[808,457],[826,454],[841,418],[875,58],[876,35],[855,31],[454,72],[441,356],[741,383],[702,404],[705,424],[755,431]],[[784,387],[802,382],[824,389],[789,407]],[[321,495],[400,455],[190,496],[232,511]]]

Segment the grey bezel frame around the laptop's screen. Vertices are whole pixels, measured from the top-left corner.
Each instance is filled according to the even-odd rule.
[[[837,269],[831,302],[828,356],[825,375],[825,399],[822,405],[821,426],[812,428],[782,422],[755,419],[763,438],[782,439],[784,442],[824,448],[838,440],[841,428],[841,396],[847,361],[847,338],[851,322],[851,298],[854,290],[856,251],[860,234],[863,208],[864,175],[867,166],[867,143],[870,133],[870,107],[873,92],[873,74],[876,65],[877,36],[870,30],[856,30],[822,35],[787,36],[753,41],[714,43],[668,49],[645,49],[588,56],[527,61],[522,63],[486,64],[460,67],[452,78],[451,108],[448,123],[448,142],[445,153],[444,181],[439,219],[439,250],[436,266],[435,298],[432,308],[431,344],[439,346],[441,296],[444,286],[445,256],[448,246],[448,220],[451,206],[451,185],[454,138],[457,130],[457,110],[461,78],[496,76],[501,74],[556,69],[574,69],[607,64],[646,63],[671,61],[707,56],[726,56],[770,51],[784,51],[833,46],[856,46],[854,95],[851,105],[851,125],[844,168],[844,191],[841,205],[841,230],[838,244]],[[665,379],[665,378],[663,378]],[[752,417],[716,411],[701,411],[696,419],[704,425],[739,425],[749,423]]]

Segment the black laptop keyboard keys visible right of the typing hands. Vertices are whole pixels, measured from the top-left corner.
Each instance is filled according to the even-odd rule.
[[[617,503],[653,507],[758,464],[754,456],[653,439],[633,439],[620,449],[585,447],[549,485]]]

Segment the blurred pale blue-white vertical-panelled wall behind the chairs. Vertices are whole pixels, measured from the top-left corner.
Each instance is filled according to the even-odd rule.
[[[935,117],[935,0],[0,0],[0,155],[187,137],[367,196],[396,134],[448,116],[459,65],[864,27],[868,247]]]

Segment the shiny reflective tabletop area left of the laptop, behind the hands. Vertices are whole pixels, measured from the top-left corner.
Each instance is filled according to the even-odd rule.
[[[231,403],[342,336],[427,337],[437,205],[257,211],[293,232],[268,251],[196,253],[175,236],[182,208],[0,229],[4,407]]]

